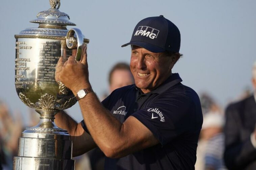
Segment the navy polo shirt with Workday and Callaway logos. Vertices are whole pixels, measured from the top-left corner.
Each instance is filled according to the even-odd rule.
[[[106,170],[195,169],[202,109],[197,93],[181,81],[174,73],[149,93],[143,94],[133,84],[113,91],[102,101],[121,123],[134,116],[159,140],[159,144],[123,158],[106,158]],[[84,121],[81,123],[88,132]]]

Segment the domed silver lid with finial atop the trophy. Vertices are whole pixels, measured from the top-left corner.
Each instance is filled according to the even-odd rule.
[[[68,14],[59,11],[60,0],[49,0],[49,4],[51,5],[50,9],[48,9],[47,11],[39,12],[37,14],[37,19],[30,22],[39,23],[40,25],[52,25],[62,27],[66,27],[68,25],[76,25],[69,21],[70,18]]]

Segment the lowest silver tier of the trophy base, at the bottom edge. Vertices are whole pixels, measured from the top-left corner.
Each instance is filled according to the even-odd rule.
[[[14,157],[13,170],[75,170],[74,160]]]

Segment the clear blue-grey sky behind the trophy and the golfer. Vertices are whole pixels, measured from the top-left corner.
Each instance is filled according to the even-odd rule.
[[[108,72],[115,63],[130,61],[130,41],[136,24],[163,15],[181,33],[183,57],[173,72],[198,94],[209,93],[223,108],[245,89],[251,89],[256,61],[256,1],[254,0],[61,0],[59,10],[90,39],[87,47],[89,80],[100,97],[108,91]],[[15,34],[37,28],[29,21],[50,8],[48,0],[1,1],[0,6],[0,100],[12,112],[19,111],[28,124],[28,107],[15,90]],[[67,112],[82,116],[78,103]],[[37,113],[34,113],[37,114]]]

